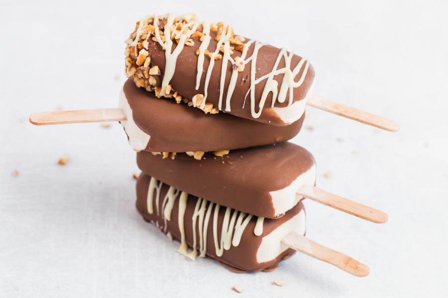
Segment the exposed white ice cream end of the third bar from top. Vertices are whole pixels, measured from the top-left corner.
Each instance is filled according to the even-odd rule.
[[[274,206],[275,216],[284,214],[303,198],[296,194],[296,192],[304,185],[314,185],[316,183],[316,164],[308,169],[306,172],[299,175],[287,187],[271,191],[269,194],[272,197],[272,205]]]

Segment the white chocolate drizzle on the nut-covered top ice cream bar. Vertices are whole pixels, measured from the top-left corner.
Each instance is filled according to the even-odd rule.
[[[152,20],[155,27],[154,35],[156,37],[157,43],[163,48],[165,51],[165,58],[166,58],[166,64],[165,64],[165,71],[164,76],[162,80],[161,85],[161,92],[158,93],[158,96],[169,96],[169,92],[165,92],[165,89],[168,85],[170,85],[170,81],[176,71],[176,62],[179,54],[181,53],[182,49],[185,46],[185,43],[187,40],[191,38],[193,33],[196,32],[196,30],[202,26],[202,37],[200,38],[200,46],[199,46],[199,57],[198,57],[198,63],[197,63],[197,74],[196,74],[196,90],[199,89],[202,75],[204,72],[204,59],[205,59],[205,51],[208,50],[208,47],[210,46],[210,41],[212,37],[210,36],[211,26],[215,26],[214,24],[211,24],[209,21],[198,21],[194,14],[185,14],[185,15],[176,15],[176,14],[166,14],[166,15],[150,15],[145,16],[140,20],[139,26],[136,30],[136,36],[135,39],[128,39],[126,42],[128,45],[135,47],[135,54],[137,56],[137,44],[140,40],[140,37],[143,33],[148,33],[147,38],[149,37],[149,32],[145,31],[145,26],[143,25],[146,21]],[[159,22],[161,20],[166,20],[166,23],[164,25],[163,34],[165,37],[165,40],[162,40],[162,37],[160,35],[159,30]],[[182,25],[181,29],[176,33],[176,28],[174,26],[174,22],[177,20],[182,20],[184,24]],[[216,27],[215,27],[216,28]],[[251,62],[251,68],[250,68],[250,86],[249,90],[247,91],[244,102],[242,105],[242,108],[244,108],[246,97],[250,94],[250,111],[252,118],[259,118],[266,99],[269,95],[269,93],[272,93],[272,105],[271,107],[274,107],[275,102],[278,101],[279,103],[283,103],[286,100],[286,96],[289,96],[288,106],[290,106],[294,102],[294,96],[293,96],[293,89],[300,87],[308,73],[310,63],[306,59],[302,58],[299,63],[294,67],[292,70],[291,67],[291,61],[294,56],[292,52],[286,51],[286,49],[281,49],[277,60],[275,62],[275,65],[273,69],[268,73],[261,77],[256,77],[256,71],[257,71],[257,57],[258,52],[261,47],[265,46],[265,44],[250,40],[244,44],[241,57],[237,58],[236,60],[233,59],[230,56],[230,44],[231,44],[231,38],[233,36],[233,29],[229,25],[223,25],[223,32],[220,34],[218,43],[216,45],[216,48],[213,51],[210,51],[210,63],[206,72],[205,76],[205,86],[204,86],[204,98],[202,102],[200,103],[200,108],[203,109],[206,104],[208,90],[209,90],[209,83],[210,78],[212,75],[212,71],[215,66],[215,57],[219,55],[221,49],[223,48],[223,61],[222,61],[222,67],[221,67],[221,77],[220,77],[220,97],[219,97],[219,104],[218,109],[223,110],[223,97],[224,97],[224,89],[225,89],[225,75],[228,70],[228,67],[232,67],[233,65],[240,65],[242,64],[245,66],[249,62]],[[175,46],[174,50],[173,48],[173,39],[176,39],[177,45]],[[247,57],[247,51],[249,47],[253,45],[253,53],[250,57]],[[285,67],[279,68],[279,64],[282,61],[282,59],[285,62]],[[229,65],[230,64],[230,65]],[[300,75],[299,79],[295,81],[295,78],[300,72],[302,71],[302,74]],[[280,89],[278,89],[278,82],[274,79],[276,75],[283,74],[283,80],[280,84]],[[238,76],[238,70],[232,69],[232,74],[230,77],[229,84],[227,86],[227,92],[226,92],[226,98],[225,98],[225,109],[224,111],[230,112],[231,111],[231,97],[233,94],[233,91],[235,89],[236,81]],[[259,84],[262,81],[266,81],[265,87],[262,91],[261,97],[258,99],[255,98],[255,86]],[[214,86],[213,86],[214,87]],[[181,90],[180,90],[181,91]],[[180,92],[182,93],[182,92]],[[307,97],[304,96],[302,100],[307,100]],[[192,99],[193,105],[197,106],[196,100]],[[303,113],[303,112],[302,112]]]

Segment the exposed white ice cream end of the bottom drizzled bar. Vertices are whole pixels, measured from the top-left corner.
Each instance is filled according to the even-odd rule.
[[[289,221],[281,224],[269,235],[261,240],[257,251],[257,262],[264,263],[273,260],[289,247],[282,244],[281,240],[291,232],[304,235],[306,231],[305,211],[302,209]]]

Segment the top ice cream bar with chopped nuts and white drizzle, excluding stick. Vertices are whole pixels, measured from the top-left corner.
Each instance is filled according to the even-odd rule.
[[[308,60],[195,15],[146,16],[126,43],[125,70],[137,86],[275,126],[302,117],[315,76]]]

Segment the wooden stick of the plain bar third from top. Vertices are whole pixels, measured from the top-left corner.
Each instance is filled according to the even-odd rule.
[[[388,219],[387,214],[382,211],[339,197],[316,186],[304,185],[297,194],[375,224],[384,224]]]

